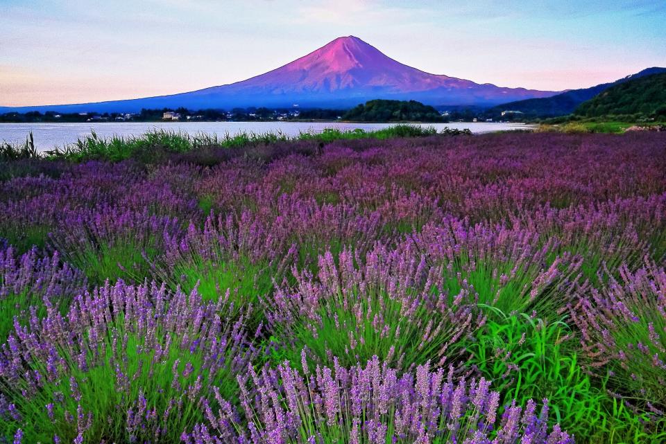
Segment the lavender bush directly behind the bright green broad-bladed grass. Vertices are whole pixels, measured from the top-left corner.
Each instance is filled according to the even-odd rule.
[[[540,246],[536,231],[449,219],[411,239],[441,265],[448,292],[467,287],[480,305],[499,312],[552,319],[565,309],[577,281],[578,258],[554,256],[556,240]]]

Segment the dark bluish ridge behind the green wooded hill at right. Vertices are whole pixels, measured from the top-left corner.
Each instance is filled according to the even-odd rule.
[[[629,82],[630,80],[642,78],[644,76],[651,76],[656,73],[666,72],[666,68],[652,67],[644,69],[638,73],[635,73],[631,76],[626,76],[620,80],[615,80],[615,82],[602,83],[595,87],[583,88],[583,89],[572,89],[570,91],[565,91],[562,94],[557,94],[556,96],[551,96],[547,98],[531,98],[527,100],[518,100],[516,102],[509,102],[493,107],[488,110],[489,114],[499,114],[502,111],[520,111],[524,114],[524,117],[527,118],[546,118],[546,117],[556,117],[556,116],[565,116],[574,112],[581,103],[586,100],[597,96],[603,91],[615,85],[620,85],[624,82]]]

